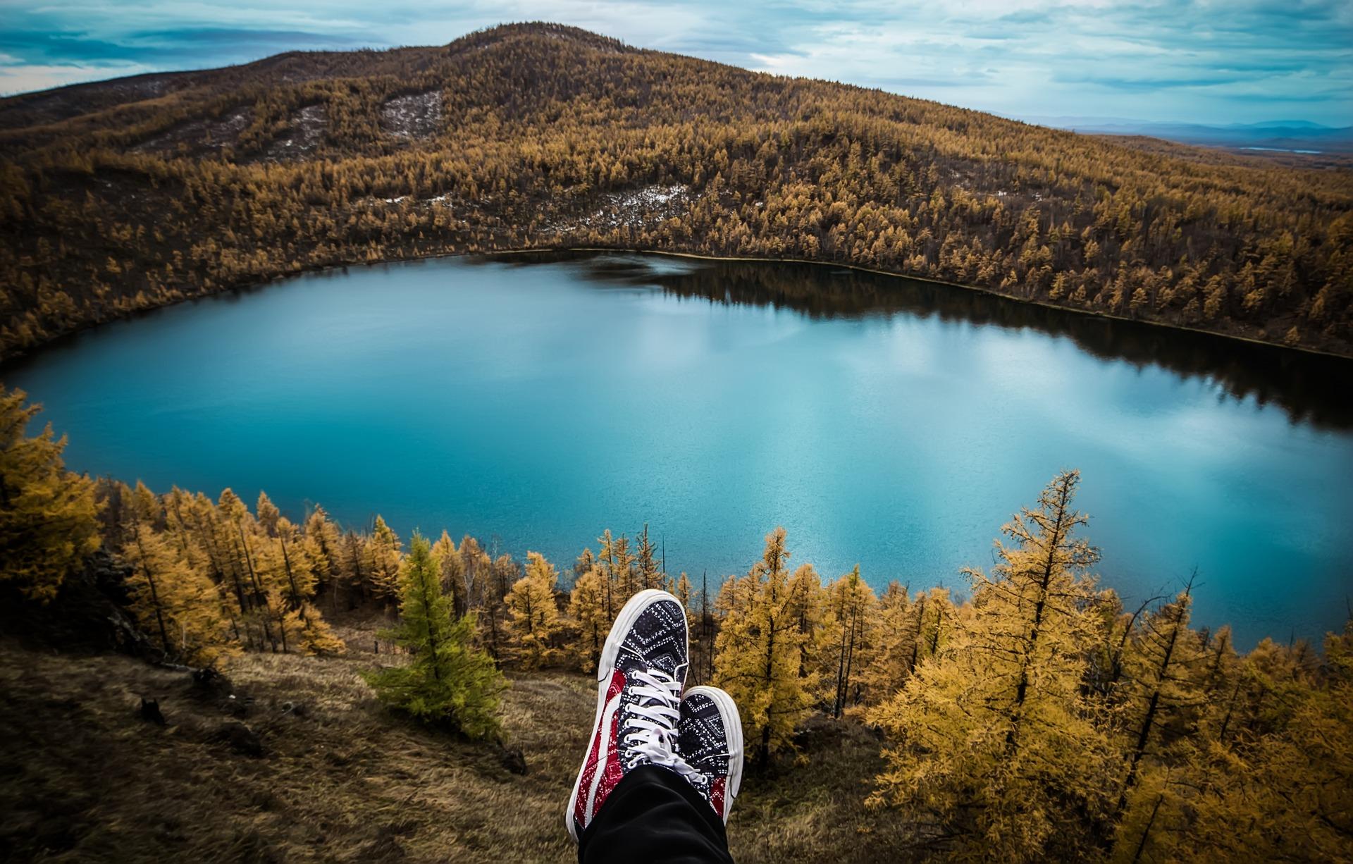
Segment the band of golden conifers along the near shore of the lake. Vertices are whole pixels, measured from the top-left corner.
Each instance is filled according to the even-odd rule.
[[[1353,844],[1353,623],[1323,653],[1192,626],[1193,583],[1135,607],[1093,576],[1077,472],[1001,529],[970,596],[875,591],[854,568],[792,565],[783,529],[740,576],[666,573],[647,527],[602,533],[571,579],[475,538],[414,535],[379,517],[291,522],[267,495],[66,472],[64,439],[28,437],[37,408],[0,399],[0,585],[45,603],[100,545],[129,608],[168,658],[229,665],[252,652],[337,654],[325,614],[398,608],[406,663],[368,675],[392,707],[468,734],[498,731],[502,671],[593,671],[610,623],[644,588],[690,613],[690,680],[741,711],[752,765],[800,749],[810,718],[884,737],[867,806],[915,826],[916,852],[1009,860],[1346,856]],[[568,584],[566,584],[566,581]]]

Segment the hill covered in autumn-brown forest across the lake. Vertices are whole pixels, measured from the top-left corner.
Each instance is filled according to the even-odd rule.
[[[792,257],[1353,354],[1353,174],[552,24],[0,100],[0,356],[307,268]]]

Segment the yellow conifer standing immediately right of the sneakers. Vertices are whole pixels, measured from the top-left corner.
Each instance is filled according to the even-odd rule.
[[[785,529],[766,535],[762,560],[718,592],[721,625],[714,641],[714,684],[737,703],[744,740],[763,763],[793,748],[793,733],[812,704],[815,675],[804,675],[802,645],[789,606]]]

